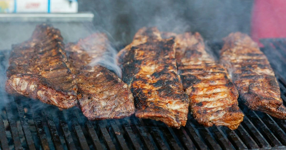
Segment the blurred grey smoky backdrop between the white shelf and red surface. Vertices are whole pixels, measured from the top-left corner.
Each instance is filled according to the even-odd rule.
[[[108,31],[115,44],[132,41],[138,29],[157,26],[160,31],[198,31],[204,39],[221,39],[230,32],[250,33],[253,1],[228,0],[106,0],[79,1],[80,11],[92,11],[94,24]]]

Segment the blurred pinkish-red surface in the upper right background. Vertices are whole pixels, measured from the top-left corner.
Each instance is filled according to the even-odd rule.
[[[286,0],[254,1],[251,37],[255,42],[262,38],[286,38]]]

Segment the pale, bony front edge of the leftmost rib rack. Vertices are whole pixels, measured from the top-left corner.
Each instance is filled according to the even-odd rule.
[[[40,101],[55,105],[62,109],[69,109],[76,105],[76,90],[75,85],[71,91],[58,91],[53,88],[49,88],[48,85],[39,82],[41,77],[31,74],[12,75],[6,81],[7,93],[14,95],[23,95],[33,99],[39,99]]]

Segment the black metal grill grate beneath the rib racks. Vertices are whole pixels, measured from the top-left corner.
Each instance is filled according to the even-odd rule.
[[[284,69],[279,70],[279,64],[275,63],[280,61],[286,66],[286,57],[281,57],[285,55],[286,42],[265,39],[262,43],[286,103]],[[210,47],[218,54],[221,43]],[[273,52],[274,49],[277,50]],[[2,65],[3,56],[0,54]],[[185,127],[173,129],[162,122],[138,119],[134,115],[125,119],[88,121],[78,107],[60,111],[25,97],[3,96],[2,100],[9,102],[1,109],[1,149],[286,149],[286,121],[251,111],[243,105],[240,108],[246,115],[236,130],[223,126],[203,127],[191,114]]]

